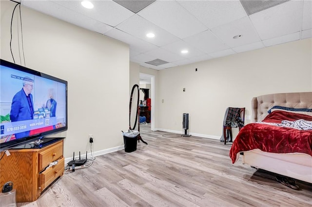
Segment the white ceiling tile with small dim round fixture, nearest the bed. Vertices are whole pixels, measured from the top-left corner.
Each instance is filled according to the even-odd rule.
[[[238,47],[260,41],[249,17],[243,17],[231,23],[215,27],[211,31],[230,47]],[[234,39],[233,36],[235,35],[242,36]]]

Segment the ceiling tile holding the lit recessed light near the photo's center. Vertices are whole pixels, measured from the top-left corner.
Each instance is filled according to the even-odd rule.
[[[175,35],[138,15],[133,15],[116,28],[159,47],[179,40]],[[155,34],[155,37],[147,37],[146,34],[148,33]]]

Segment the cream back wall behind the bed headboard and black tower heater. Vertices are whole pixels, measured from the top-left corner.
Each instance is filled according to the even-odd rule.
[[[251,115],[255,96],[312,91],[311,48],[310,38],[160,70],[156,128],[184,132],[182,114],[189,113],[189,133],[219,138],[227,107]]]

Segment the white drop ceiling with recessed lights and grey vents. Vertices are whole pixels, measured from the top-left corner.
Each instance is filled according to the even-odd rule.
[[[286,1],[249,16],[239,0],[156,0],[137,14],[113,0],[90,1],[93,9],[80,0],[21,4],[125,42],[130,61],[157,70],[312,37],[312,0]],[[155,37],[146,37],[150,32]],[[155,59],[168,63],[146,63]]]

